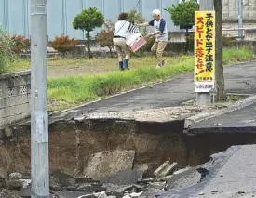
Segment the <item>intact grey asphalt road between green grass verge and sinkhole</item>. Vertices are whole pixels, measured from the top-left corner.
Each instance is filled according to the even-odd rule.
[[[224,68],[226,92],[256,93],[256,62],[236,64]],[[132,112],[181,105],[194,99],[193,74],[180,75],[168,82],[128,92],[78,107],[54,118],[72,118],[88,112]]]

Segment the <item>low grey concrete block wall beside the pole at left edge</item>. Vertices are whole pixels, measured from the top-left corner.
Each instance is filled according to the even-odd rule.
[[[0,130],[30,115],[31,72],[0,75]]]

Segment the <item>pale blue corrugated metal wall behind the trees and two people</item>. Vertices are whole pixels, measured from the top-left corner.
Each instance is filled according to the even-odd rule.
[[[47,0],[48,37],[65,34],[78,39],[84,39],[81,31],[73,28],[74,16],[82,9],[98,7],[105,15],[105,19],[116,21],[120,12],[134,7],[141,11],[146,20],[151,20],[152,10],[159,8],[163,17],[168,21],[168,31],[176,31],[165,7],[177,4],[178,0]],[[0,0],[0,23],[8,33],[30,36],[30,0]],[[92,36],[99,29],[92,33]]]

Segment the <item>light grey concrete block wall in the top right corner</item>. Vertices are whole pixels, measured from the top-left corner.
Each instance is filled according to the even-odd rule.
[[[238,19],[238,0],[222,0],[223,20],[236,22]],[[243,0],[245,21],[256,22],[256,0]]]

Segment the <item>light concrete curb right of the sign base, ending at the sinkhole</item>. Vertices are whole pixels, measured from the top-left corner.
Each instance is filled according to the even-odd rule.
[[[234,104],[231,104],[227,108],[224,108],[222,110],[218,110],[218,111],[214,111],[214,112],[198,113],[197,115],[194,115],[194,116],[191,116],[191,117],[185,119],[184,129],[190,128],[192,125],[195,125],[195,123],[209,120],[213,117],[217,117],[217,116],[220,116],[225,113],[234,112],[236,110],[243,109],[243,108],[248,107],[249,105],[253,104],[254,102],[256,102],[256,95],[253,95],[247,99],[241,99],[239,101],[236,101]]]

